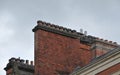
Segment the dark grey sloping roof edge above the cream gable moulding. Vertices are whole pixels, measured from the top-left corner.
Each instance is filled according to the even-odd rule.
[[[120,46],[113,49],[112,51],[96,58],[95,60],[91,61],[88,65],[78,69],[77,71],[71,73],[70,75],[74,75],[74,74],[80,74],[80,72],[85,72],[86,70],[96,66],[97,64],[100,64],[106,60],[108,60],[109,58],[111,58],[112,56],[118,55],[120,53]]]

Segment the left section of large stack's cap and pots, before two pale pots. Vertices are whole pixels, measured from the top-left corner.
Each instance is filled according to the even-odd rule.
[[[33,29],[33,32],[35,32],[39,29],[53,32],[56,34],[60,34],[63,36],[72,37],[72,38],[77,38],[80,35],[83,35],[83,33],[76,32],[76,30],[72,30],[72,29],[65,28],[65,27],[58,26],[58,25],[51,24],[51,23],[46,23],[43,21],[37,21],[37,26]]]

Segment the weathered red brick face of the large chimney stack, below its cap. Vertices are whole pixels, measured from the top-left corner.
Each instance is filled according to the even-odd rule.
[[[90,46],[59,34],[35,32],[35,75],[58,75],[57,71],[72,72],[91,60]]]

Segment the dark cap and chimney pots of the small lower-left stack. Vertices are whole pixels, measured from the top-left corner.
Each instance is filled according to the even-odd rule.
[[[14,57],[12,57],[11,59],[9,59],[9,63],[4,68],[4,70],[7,71],[10,68],[13,68],[14,66],[17,66],[17,68],[20,69],[20,70],[34,72],[33,61],[30,61],[30,63],[29,63],[29,60],[23,60],[23,59],[14,58]]]

